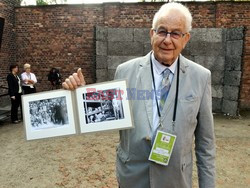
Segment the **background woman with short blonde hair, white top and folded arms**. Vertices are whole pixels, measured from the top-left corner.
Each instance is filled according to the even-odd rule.
[[[22,88],[24,94],[36,93],[35,84],[37,79],[34,73],[30,72],[30,64],[25,63],[23,69],[25,72],[21,74]]]

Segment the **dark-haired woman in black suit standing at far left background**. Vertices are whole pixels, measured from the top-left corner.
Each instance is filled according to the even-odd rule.
[[[18,108],[21,109],[21,117],[22,117],[22,104],[21,104],[21,95],[22,95],[22,87],[21,87],[21,79],[18,77],[18,65],[13,64],[10,65],[10,73],[7,76],[9,95],[11,99],[11,121],[12,123],[19,123],[18,119]]]

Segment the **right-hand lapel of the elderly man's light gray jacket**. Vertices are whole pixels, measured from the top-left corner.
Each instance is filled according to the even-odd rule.
[[[182,83],[183,78],[185,77],[187,65],[185,63],[185,58],[182,55],[180,55],[179,58],[180,58],[180,77],[179,77],[179,91],[180,91],[180,88],[181,88],[180,85]],[[173,78],[173,81],[169,90],[168,97],[165,101],[165,104],[162,110],[162,119],[164,119],[165,116],[167,116],[170,109],[173,109],[175,96],[176,96],[176,82],[177,82],[177,67],[174,73],[174,78]]]

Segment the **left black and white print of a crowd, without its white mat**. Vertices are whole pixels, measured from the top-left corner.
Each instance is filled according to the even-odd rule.
[[[66,97],[29,102],[30,121],[34,130],[69,124]]]

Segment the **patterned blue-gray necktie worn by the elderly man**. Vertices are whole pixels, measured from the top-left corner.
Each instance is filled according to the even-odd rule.
[[[162,73],[162,81],[161,81],[161,85],[160,85],[160,90],[161,90],[161,98],[160,98],[160,102],[159,102],[159,107],[160,107],[160,111],[162,111],[163,106],[165,104],[165,101],[167,99],[168,96],[168,92],[170,89],[170,80],[169,80],[169,75],[170,75],[170,70],[168,68],[166,68]]]

